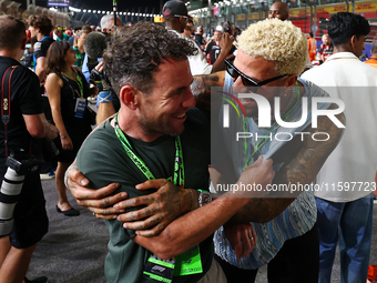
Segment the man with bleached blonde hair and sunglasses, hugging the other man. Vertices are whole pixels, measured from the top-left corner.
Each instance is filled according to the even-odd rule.
[[[305,68],[306,59],[306,38],[298,28],[289,21],[265,20],[252,24],[240,37],[237,57],[234,64],[226,61],[225,72],[194,77],[192,91],[197,97],[197,104],[203,104],[203,100],[211,95],[213,95],[213,101],[226,101],[216,100],[217,97],[211,93],[210,87],[220,87],[221,91],[226,93],[224,98],[227,100],[232,95],[236,98],[240,94],[257,93],[258,99],[267,100],[271,105],[271,111],[266,112],[266,109],[258,109],[255,100],[238,97],[236,101],[240,101],[244,109],[245,118],[238,119],[234,115],[235,111],[231,112],[228,130],[222,132],[218,139],[213,139],[212,155],[214,159],[211,160],[211,176],[215,188],[218,188],[217,184],[237,180],[237,176],[244,172],[244,168],[258,160],[261,155],[264,159],[272,156],[274,161],[273,184],[309,186],[327,155],[336,146],[343,129],[337,128],[327,117],[319,117],[317,127],[312,127],[312,98],[327,99],[328,94],[316,85],[297,78]],[[275,98],[281,100],[281,111],[276,113]],[[303,98],[307,100],[307,104],[303,104]],[[299,127],[277,127],[278,123],[275,120],[267,128],[258,127],[262,112],[268,118],[284,117],[285,122],[302,120],[303,105],[309,114],[306,119],[304,118]],[[222,107],[225,109],[224,104]],[[330,103],[319,103],[317,108],[325,111],[337,107]],[[342,113],[335,118],[340,123],[344,119]],[[218,121],[224,120],[220,117]],[[223,129],[223,124],[220,127]],[[244,127],[246,127],[246,132],[253,133],[253,137],[264,137],[259,140],[242,139],[242,142],[236,142],[234,137],[237,132],[245,132]],[[286,141],[279,141],[282,139],[276,138],[265,139],[269,135],[281,138],[282,134],[294,135],[295,132],[306,134],[295,135]],[[316,142],[312,137],[317,132],[326,132],[329,139]],[[220,148],[222,140],[226,145]],[[232,176],[224,179],[228,174]],[[110,219],[113,218],[111,214],[119,214],[119,210],[130,209],[136,204],[149,205],[146,210],[118,216],[118,220],[126,223],[128,229],[144,230],[142,234],[156,235],[166,226],[166,216],[172,214],[170,211],[177,211],[181,205],[187,206],[187,202],[192,201],[184,199],[184,195],[175,194],[176,202],[166,203],[162,198],[156,198],[162,193],[159,191],[153,200],[136,198],[120,202],[115,209],[103,210],[99,208],[102,204],[104,204],[103,208],[116,203],[120,195],[101,200],[103,196],[98,196],[89,189],[79,185],[83,184],[82,182],[89,183],[82,174],[73,171],[70,176],[69,185],[78,202],[94,211],[98,218]],[[105,195],[112,191],[113,189],[108,186],[101,189],[100,192],[101,195]],[[174,194],[169,190],[164,190],[163,193]],[[255,192],[251,192],[248,198],[255,195],[253,193]],[[153,208],[160,209],[153,213]],[[133,223],[133,221],[136,222]],[[249,222],[253,224],[251,225]],[[216,260],[220,261],[228,282],[253,282],[257,269],[268,264],[269,282],[278,282],[284,277],[285,282],[289,283],[300,283],[303,279],[315,283],[318,280],[319,264],[315,223],[316,206],[312,191],[259,194],[258,198],[251,199],[224,228],[215,233]],[[153,224],[152,233],[149,233],[147,229],[151,224]]]

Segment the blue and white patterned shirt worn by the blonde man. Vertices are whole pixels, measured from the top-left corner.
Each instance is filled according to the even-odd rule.
[[[310,82],[306,82],[302,79],[298,79],[298,81],[303,83],[305,88],[305,93],[303,98],[307,98],[307,119],[305,123],[299,128],[279,127],[272,131],[272,129],[259,129],[253,119],[247,118],[248,132],[253,133],[253,137],[255,137],[255,133],[258,133],[259,135],[269,135],[269,133],[272,133],[274,137],[276,137],[276,133],[279,133],[278,140],[284,140],[284,135],[294,135],[295,132],[303,131],[312,123],[312,98],[328,97],[328,94]],[[234,94],[232,91],[232,85],[233,81],[231,77],[226,73],[224,92]],[[297,104],[289,113],[289,117],[285,121],[299,121],[302,118],[302,99],[299,99]],[[317,108],[322,110],[327,109],[328,107],[329,103],[318,103],[317,105]],[[235,111],[231,111],[230,119],[230,129],[232,129],[231,131],[233,132],[233,134],[228,134],[226,137],[224,135],[224,140],[227,152],[232,156],[236,175],[240,176],[241,173],[244,171],[246,158],[248,159],[248,156],[252,154],[252,150],[254,151],[254,148],[256,146],[256,143],[258,141],[249,139],[251,146],[248,146],[247,149],[246,156],[244,146],[237,146],[235,141],[233,143],[230,142],[231,135],[235,137],[236,132],[244,131],[244,123],[242,119],[237,119],[236,115],[234,115],[232,119],[233,112]],[[284,144],[285,142],[277,141],[276,139],[268,139],[266,143],[259,149],[259,153],[264,155],[265,159],[267,159],[272,156],[274,152],[278,151]],[[255,156],[253,158],[252,163],[254,161]],[[279,168],[283,166],[283,164],[284,161],[278,164],[274,163],[274,170],[277,171]],[[293,201],[291,205],[274,220],[267,223],[252,223],[257,239],[256,246],[248,256],[246,256],[245,259],[236,259],[231,244],[225,237],[223,228],[218,229],[214,234],[215,253],[223,260],[230,262],[237,267],[245,270],[258,269],[267,264],[277,254],[285,241],[300,236],[309,231],[316,222],[316,216],[317,209],[313,191],[305,191],[300,193],[299,196],[296,198],[296,200]]]

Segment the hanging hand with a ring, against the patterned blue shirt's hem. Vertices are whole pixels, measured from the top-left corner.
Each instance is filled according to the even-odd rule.
[[[226,223],[224,232],[237,259],[247,256],[256,245],[256,234],[249,223]]]

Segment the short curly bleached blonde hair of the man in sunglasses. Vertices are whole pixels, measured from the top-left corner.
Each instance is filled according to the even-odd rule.
[[[291,21],[266,19],[251,24],[238,38],[238,48],[254,58],[274,61],[277,74],[299,75],[308,57],[307,40]]]

